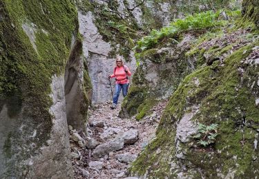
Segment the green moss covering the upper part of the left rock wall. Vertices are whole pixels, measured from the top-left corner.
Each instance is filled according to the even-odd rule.
[[[20,134],[17,129],[12,134],[12,140],[8,140],[15,146],[10,152],[19,154],[12,156],[14,160],[10,162],[19,164],[21,160],[34,156],[50,137],[50,84],[52,76],[64,75],[72,36],[77,34],[77,11],[68,0],[1,1],[0,7],[3,16],[0,24],[1,103],[8,104],[10,118],[16,118],[22,112],[16,126],[24,125],[23,131],[26,131],[26,134]],[[23,25],[32,29],[35,47],[23,31]],[[15,96],[15,101],[12,96]],[[21,135],[33,134],[35,129],[35,138],[26,142],[21,138]],[[35,143],[36,147],[27,150],[31,143]],[[15,164],[11,165],[15,172],[19,172]]]

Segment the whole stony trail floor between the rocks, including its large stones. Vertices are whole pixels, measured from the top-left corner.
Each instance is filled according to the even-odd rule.
[[[157,104],[153,114],[142,121],[119,118],[120,104],[113,110],[110,105],[90,107],[88,134],[69,126],[75,178],[135,178],[128,176],[127,169],[155,137],[166,103]]]

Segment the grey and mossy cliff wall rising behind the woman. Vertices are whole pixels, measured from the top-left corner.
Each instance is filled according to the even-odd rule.
[[[133,74],[135,42],[152,29],[168,25],[184,14],[236,8],[240,1],[77,1],[80,33],[93,84],[93,103],[111,100],[106,76],[113,72],[115,56],[121,55]],[[114,81],[112,83],[114,86]],[[121,95],[122,96],[122,95]]]

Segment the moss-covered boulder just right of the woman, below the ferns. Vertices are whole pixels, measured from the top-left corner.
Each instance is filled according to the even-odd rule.
[[[140,54],[140,65],[122,103],[120,117],[137,114],[136,119],[141,120],[158,101],[168,99],[182,78],[194,70],[195,59],[184,54],[190,48],[187,42],[191,44],[195,35],[185,35],[179,43],[169,39]]]

